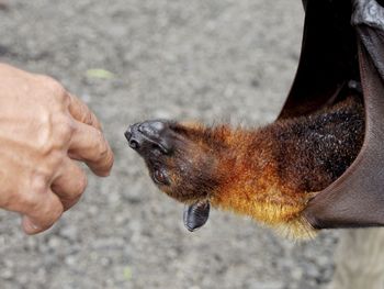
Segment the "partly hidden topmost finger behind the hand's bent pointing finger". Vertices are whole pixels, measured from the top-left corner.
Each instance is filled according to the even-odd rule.
[[[79,122],[91,125],[101,131],[101,124],[94,113],[76,96],[67,92],[69,98],[68,110],[72,118]]]

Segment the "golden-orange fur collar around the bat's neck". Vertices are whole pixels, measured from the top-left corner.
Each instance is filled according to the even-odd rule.
[[[221,181],[211,192],[211,203],[223,210],[251,216],[276,227],[286,236],[313,236],[314,230],[301,216],[309,194],[282,184],[269,148],[272,140],[263,140],[264,134],[258,137],[255,134],[255,131],[244,130],[230,133],[230,129],[226,126],[214,131],[214,135],[221,135],[222,142],[233,151],[218,157],[221,165],[216,174],[221,176]],[[250,155],[252,151],[249,144],[252,142],[259,144],[259,154]]]

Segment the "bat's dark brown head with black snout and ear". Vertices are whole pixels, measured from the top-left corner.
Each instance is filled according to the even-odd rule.
[[[184,224],[190,231],[206,222],[208,199],[219,184],[217,149],[222,143],[213,144],[217,140],[208,135],[197,124],[163,120],[135,123],[125,132],[158,188],[188,204]]]

